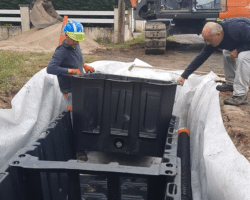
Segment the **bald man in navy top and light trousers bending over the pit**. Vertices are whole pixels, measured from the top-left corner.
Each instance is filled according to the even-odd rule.
[[[202,36],[206,45],[199,55],[189,64],[177,83],[184,84],[197,68],[217,49],[223,49],[223,62],[226,83],[218,85],[221,92],[232,91],[233,96],[224,100],[224,104],[241,105],[247,103],[250,81],[250,20],[231,18],[222,22],[208,22]]]

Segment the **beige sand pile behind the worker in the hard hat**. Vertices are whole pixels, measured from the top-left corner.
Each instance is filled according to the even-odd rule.
[[[0,41],[1,50],[53,52],[58,46],[62,24],[58,23],[45,29],[33,28],[8,40]],[[102,48],[97,42],[85,35],[80,42],[83,54]]]

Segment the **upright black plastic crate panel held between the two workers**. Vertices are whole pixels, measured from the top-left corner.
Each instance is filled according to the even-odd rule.
[[[72,77],[76,149],[161,157],[173,82],[107,74]]]

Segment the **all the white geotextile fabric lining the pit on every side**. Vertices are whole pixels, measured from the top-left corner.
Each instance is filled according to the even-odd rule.
[[[97,71],[133,77],[176,81],[182,71],[128,68],[149,66],[96,61]],[[191,170],[194,200],[249,200],[250,164],[235,148],[221,118],[216,75],[191,75],[183,87],[177,86],[173,114],[180,128],[191,131]],[[12,100],[12,109],[0,109],[0,168],[21,147],[27,145],[66,104],[56,76],[38,72]]]

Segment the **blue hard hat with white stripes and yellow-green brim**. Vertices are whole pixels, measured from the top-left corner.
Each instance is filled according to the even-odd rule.
[[[80,22],[71,20],[64,26],[64,32],[72,40],[82,41],[84,40],[83,26]]]

